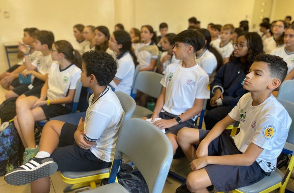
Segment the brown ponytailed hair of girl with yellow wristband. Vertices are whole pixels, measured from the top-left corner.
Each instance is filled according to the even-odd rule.
[[[59,40],[54,42],[57,52],[63,53],[65,59],[73,62],[80,69],[82,68],[82,57],[80,53],[73,48],[71,43],[66,40]]]

